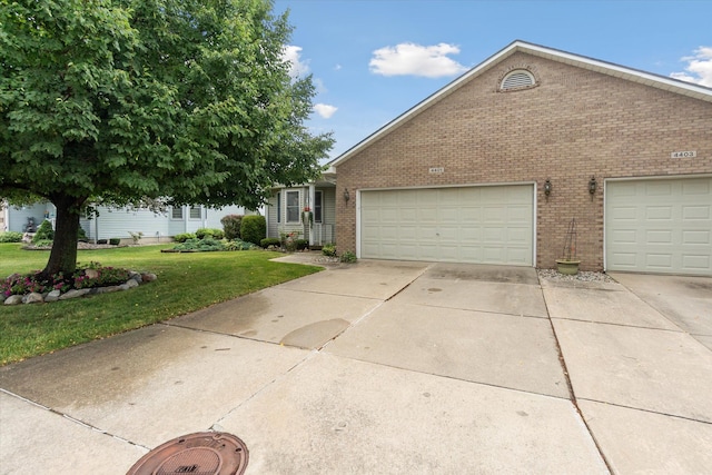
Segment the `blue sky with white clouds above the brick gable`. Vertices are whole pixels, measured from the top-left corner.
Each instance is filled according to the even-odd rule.
[[[336,158],[514,40],[712,87],[712,0],[276,0]]]

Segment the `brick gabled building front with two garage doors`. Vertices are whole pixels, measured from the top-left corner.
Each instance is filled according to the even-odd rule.
[[[583,270],[712,275],[702,86],[514,41],[330,165],[360,258],[551,268],[575,219]]]

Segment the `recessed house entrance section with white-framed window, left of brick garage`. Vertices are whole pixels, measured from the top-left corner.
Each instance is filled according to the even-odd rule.
[[[267,237],[307,239],[309,246],[324,246],[335,240],[336,176],[322,174],[309,184],[275,186],[265,209]]]

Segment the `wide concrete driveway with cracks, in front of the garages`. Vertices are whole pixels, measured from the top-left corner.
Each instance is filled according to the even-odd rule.
[[[712,279],[695,316],[616,278],[363,260],[10,365],[0,473],[123,474],[208,429],[247,474],[709,473]]]

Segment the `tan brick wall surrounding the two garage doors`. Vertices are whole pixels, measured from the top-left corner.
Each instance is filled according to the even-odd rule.
[[[538,86],[498,92],[516,67]],[[675,150],[698,157],[671,159]],[[576,218],[581,268],[597,270],[604,179],[710,172],[712,103],[517,52],[337,167],[336,240],[342,250],[356,248],[358,189],[536,181],[536,266],[555,266]]]

